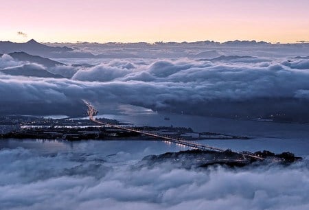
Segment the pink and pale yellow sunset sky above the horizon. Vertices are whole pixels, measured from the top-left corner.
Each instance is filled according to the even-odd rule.
[[[16,42],[309,40],[308,0],[0,0],[0,5],[0,40]]]

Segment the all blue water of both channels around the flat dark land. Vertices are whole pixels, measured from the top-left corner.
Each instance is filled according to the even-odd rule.
[[[166,113],[157,113],[137,106],[118,106],[119,115],[98,115],[116,119],[136,126],[175,126],[192,128],[196,132],[218,132],[227,135],[253,137],[249,140],[204,140],[198,141],[218,148],[229,148],[236,151],[270,150],[272,152],[293,152],[297,155],[309,154],[308,124],[279,124],[266,121],[246,121],[222,119],[216,117],[200,117],[192,115],[168,114],[170,120],[164,120]],[[52,117],[52,116],[49,116]],[[54,116],[55,117],[55,116]],[[63,116],[62,116],[63,117]],[[88,119],[88,117],[82,117]],[[1,140],[0,149],[27,148],[40,152],[95,152],[110,155],[117,152],[135,154],[142,158],[148,154],[175,152],[190,148],[174,145],[164,141],[43,141],[43,140]]]

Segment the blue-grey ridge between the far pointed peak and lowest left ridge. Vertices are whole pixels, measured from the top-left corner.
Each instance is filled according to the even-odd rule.
[[[45,67],[65,66],[65,64],[62,62],[57,62],[55,60],[50,60],[49,58],[43,58],[41,56],[32,56],[25,53],[24,51],[10,53],[9,55],[15,60],[35,62]]]

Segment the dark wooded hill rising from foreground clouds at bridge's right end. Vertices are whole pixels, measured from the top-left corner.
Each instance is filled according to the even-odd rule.
[[[264,160],[253,159],[246,154],[259,156]],[[268,163],[277,163],[288,165],[300,161],[302,158],[295,156],[291,152],[283,152],[282,154],[275,154],[269,151],[262,152],[232,152],[226,150],[225,152],[203,151],[203,150],[186,150],[180,152],[167,152],[159,155],[145,156],[141,161],[141,165],[152,167],[161,163],[172,163],[176,167],[185,169],[192,169],[197,167],[208,167],[210,165],[222,165],[225,167],[244,167],[247,165],[260,165]]]

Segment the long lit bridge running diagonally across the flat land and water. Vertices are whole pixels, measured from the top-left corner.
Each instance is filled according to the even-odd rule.
[[[121,129],[121,130],[130,131],[130,132],[137,132],[141,135],[146,135],[148,137],[155,137],[157,139],[163,139],[164,141],[168,141],[170,143],[176,143],[177,145],[184,145],[184,146],[194,148],[194,149],[198,149],[198,150],[216,151],[216,152],[226,151],[225,149],[222,149],[222,148],[216,148],[216,147],[213,147],[213,146],[210,146],[210,145],[203,145],[203,144],[199,144],[199,143],[185,141],[181,138],[173,138],[173,137],[169,137],[169,136],[158,135],[156,132],[150,132],[150,131],[145,131],[145,130],[137,130],[135,128],[128,128],[128,127],[124,127],[124,126],[119,126],[119,125],[115,125],[115,124],[109,124],[109,123],[105,123],[105,122],[102,122],[102,121],[98,121],[97,119],[94,118],[94,116],[98,114],[98,110],[96,110],[95,107],[92,106],[86,100],[83,100],[83,102],[88,107],[87,114],[89,115],[89,119],[91,121],[97,123],[97,124],[102,125],[102,126],[108,126],[108,127],[111,127],[111,128],[118,128],[118,129]],[[243,152],[235,152],[235,153],[242,154],[243,156],[251,157],[253,159],[263,160],[263,158],[261,158],[260,156],[255,156],[253,154],[247,154],[247,153],[243,153]]]

